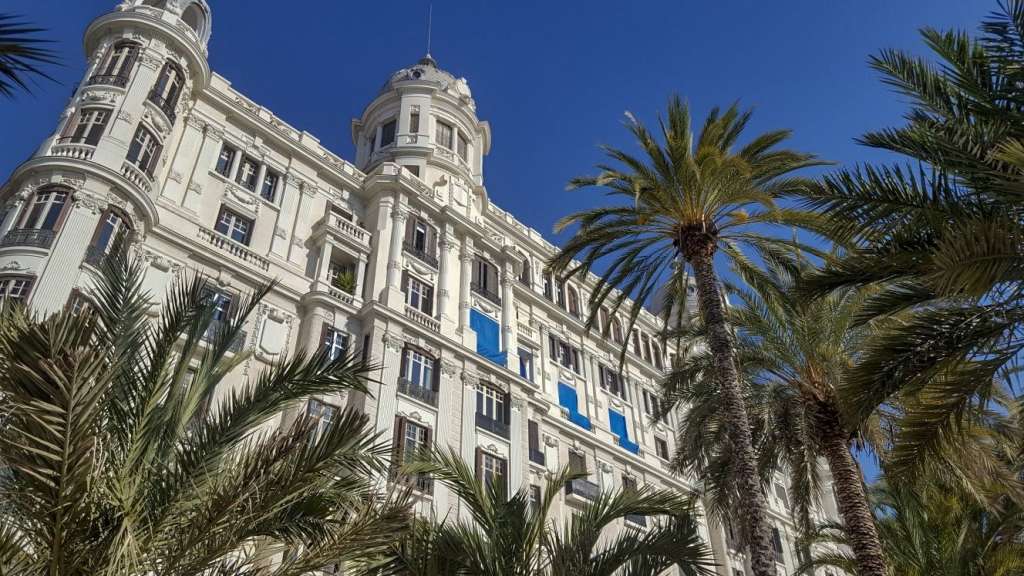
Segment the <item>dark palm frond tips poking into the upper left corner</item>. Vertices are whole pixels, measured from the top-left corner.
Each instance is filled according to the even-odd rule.
[[[39,65],[57,64],[56,54],[40,46],[49,42],[33,36],[44,32],[18,20],[14,14],[0,13],[0,95],[11,97],[15,89],[30,92],[30,76],[53,80]]]

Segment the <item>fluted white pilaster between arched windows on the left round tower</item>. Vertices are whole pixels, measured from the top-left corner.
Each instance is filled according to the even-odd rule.
[[[50,254],[39,271],[31,295],[34,312],[48,315],[60,311],[82,274],[82,259],[96,230],[106,201],[85,191],[75,192],[69,213],[57,232]]]

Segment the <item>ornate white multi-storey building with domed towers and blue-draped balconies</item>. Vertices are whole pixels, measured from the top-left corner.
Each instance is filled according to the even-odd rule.
[[[670,472],[671,426],[649,421],[667,362],[655,318],[626,334],[605,315],[585,332],[594,279],[545,278],[555,246],[492,204],[490,128],[464,78],[430,56],[392,74],[352,122],[349,162],[213,73],[210,32],[203,0],[127,0],[89,25],[80,86],[0,189],[0,298],[58,310],[118,242],[138,244],[158,298],[187,270],[211,277],[225,310],[279,279],[239,342],[252,353],[246,372],[299,347],[368,348],[384,366],[374,394],[308,410],[365,411],[398,457],[442,443],[513,490],[585,466],[558,515],[600,490],[697,488]],[[458,513],[442,486],[418,487],[424,509]],[[770,492],[792,570],[781,480]],[[726,529],[702,532],[722,575],[749,573]]]

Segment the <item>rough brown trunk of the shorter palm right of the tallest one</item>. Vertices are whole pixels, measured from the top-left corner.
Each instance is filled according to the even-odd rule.
[[[860,468],[850,454],[849,435],[837,425],[822,431],[822,449],[836,487],[836,505],[857,560],[857,574],[886,576],[886,557],[874,517],[867,505]]]

